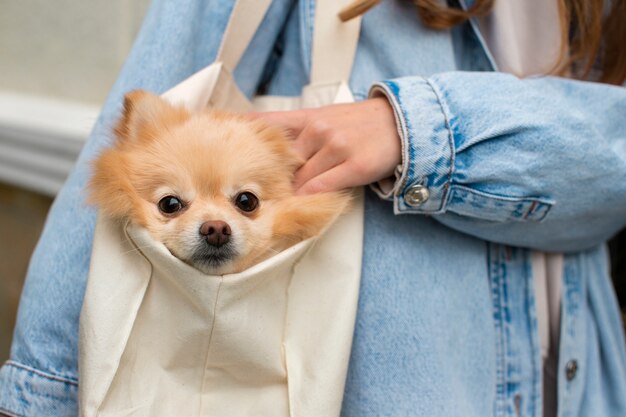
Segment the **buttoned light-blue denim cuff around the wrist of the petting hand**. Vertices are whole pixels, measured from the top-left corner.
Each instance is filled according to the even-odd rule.
[[[434,85],[421,77],[376,83],[370,97],[386,97],[402,141],[402,166],[393,186],[372,185],[393,199],[396,214],[437,214],[445,211],[454,167],[453,137]]]

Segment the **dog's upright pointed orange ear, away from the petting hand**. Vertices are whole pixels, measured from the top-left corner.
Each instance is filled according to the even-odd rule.
[[[124,96],[122,117],[115,127],[119,141],[141,142],[154,137],[158,129],[184,122],[189,113],[161,97],[143,90]]]

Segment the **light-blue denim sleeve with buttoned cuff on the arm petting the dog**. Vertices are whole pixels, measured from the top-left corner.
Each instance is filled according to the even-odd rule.
[[[403,142],[396,214],[493,242],[576,251],[626,224],[626,89],[451,72],[387,80]],[[376,187],[375,187],[376,189]]]

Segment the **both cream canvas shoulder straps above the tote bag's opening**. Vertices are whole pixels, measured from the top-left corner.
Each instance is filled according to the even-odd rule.
[[[232,72],[257,32],[272,0],[237,0],[215,59]],[[360,16],[341,22],[350,0],[317,0],[313,30],[311,84],[347,81],[356,53]]]

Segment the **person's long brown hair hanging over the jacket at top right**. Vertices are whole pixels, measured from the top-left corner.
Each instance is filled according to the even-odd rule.
[[[439,0],[413,0],[424,23],[448,29],[491,11],[495,0],[476,0],[468,10]],[[561,20],[561,54],[553,74],[608,83],[626,81],[626,0],[557,0]],[[595,74],[596,70],[598,73]]]

